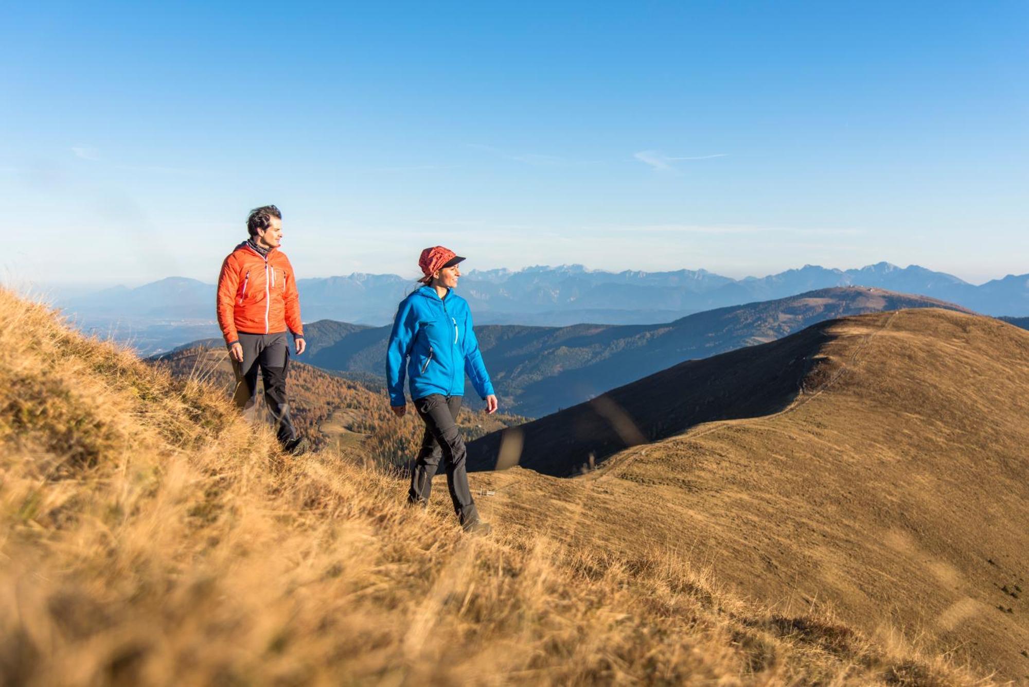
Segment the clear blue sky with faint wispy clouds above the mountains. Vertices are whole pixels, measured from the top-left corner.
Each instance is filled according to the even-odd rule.
[[[142,6],[146,4],[146,6]],[[87,5],[87,6],[86,6]],[[5,3],[20,283],[1029,272],[1029,3]]]

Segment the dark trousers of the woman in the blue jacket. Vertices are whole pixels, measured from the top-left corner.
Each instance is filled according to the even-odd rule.
[[[447,487],[454,502],[454,511],[461,525],[478,519],[475,502],[468,489],[468,473],[465,470],[464,439],[457,428],[457,413],[461,409],[460,396],[430,394],[415,401],[415,409],[425,422],[422,448],[415,459],[415,469],[411,472],[411,503],[425,505],[432,491],[432,476],[443,460],[447,471]]]

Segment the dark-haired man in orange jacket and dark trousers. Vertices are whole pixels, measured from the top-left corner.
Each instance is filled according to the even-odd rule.
[[[300,295],[289,259],[279,250],[282,213],[274,205],[250,211],[250,238],[236,247],[218,275],[218,324],[236,372],[233,400],[249,421],[257,401],[257,369],[264,378],[264,400],[277,425],[279,443],[288,451],[303,451],[286,399],[286,371],[292,333],[296,355],[304,353]]]

